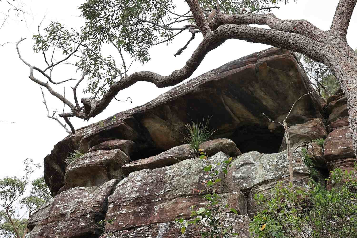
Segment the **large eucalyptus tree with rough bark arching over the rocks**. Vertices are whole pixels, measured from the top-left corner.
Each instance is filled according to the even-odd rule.
[[[322,31],[307,20],[281,20],[269,12],[288,0],[185,0],[178,11],[172,0],[86,0],[79,9],[85,23],[79,31],[67,28],[60,22],[52,22],[44,31],[34,36],[34,50],[43,54],[44,67],[29,66],[29,78],[64,102],[70,112],[60,113],[65,121],[69,117],[89,120],[101,113],[123,89],[138,81],[154,83],[157,87],[174,86],[187,79],[201,64],[206,54],[228,39],[245,40],[272,45],[300,52],[312,60],[327,65],[337,78],[347,97],[351,135],[357,149],[357,54],[347,44],[346,34],[357,0],[339,0],[331,27]],[[187,4],[187,5],[186,5]],[[270,29],[250,26],[267,25]],[[141,71],[129,74],[130,64],[124,60],[122,51],[132,59],[145,63],[150,60],[149,49],[153,45],[170,42],[182,32],[202,34],[203,40],[192,52],[181,69],[168,76]],[[120,57],[120,64],[111,56],[102,54],[102,46],[110,44]],[[186,49],[184,45],[175,55]],[[53,61],[53,49],[61,49],[63,58]],[[47,55],[49,54],[49,55]],[[74,103],[52,89],[60,82],[52,80],[52,71],[69,58],[78,59],[73,65],[82,72],[82,77],[72,87]],[[44,80],[34,76],[37,71]],[[85,92],[92,97],[79,100],[78,84],[87,80]],[[47,82],[46,82],[47,81]],[[68,130],[69,131],[69,130]],[[71,133],[75,133],[71,126]]]

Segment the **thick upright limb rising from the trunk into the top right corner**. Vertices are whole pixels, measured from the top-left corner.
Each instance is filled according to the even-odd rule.
[[[346,41],[348,25],[355,9],[357,0],[340,0],[338,2],[335,16],[333,17],[330,31],[332,34],[342,37]]]

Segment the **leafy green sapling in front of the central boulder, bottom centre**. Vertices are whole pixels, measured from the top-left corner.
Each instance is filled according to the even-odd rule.
[[[188,226],[195,226],[200,228],[202,238],[220,237],[229,238],[234,237],[233,226],[231,221],[224,220],[224,212],[231,211],[237,214],[237,211],[233,208],[228,209],[228,204],[222,204],[221,197],[216,193],[217,184],[221,183],[220,172],[227,174],[227,167],[231,166],[229,163],[232,161],[232,157],[226,161],[211,164],[207,161],[207,155],[204,150],[200,151],[200,158],[205,159],[205,167],[203,171],[208,174],[207,179],[203,184],[205,190],[196,191],[207,201],[207,205],[204,207],[191,206],[192,219],[185,221],[184,219],[177,219],[176,223],[181,226],[181,233],[184,234]]]

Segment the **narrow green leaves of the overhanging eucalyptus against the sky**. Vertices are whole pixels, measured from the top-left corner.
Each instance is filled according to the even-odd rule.
[[[207,9],[208,5],[213,9],[217,7],[216,1],[199,2],[205,11],[211,11]],[[241,14],[267,12],[271,7],[287,4],[289,1],[218,2],[220,11]],[[79,10],[84,17],[80,30],[67,27],[61,22],[51,22],[33,36],[33,49],[44,55],[51,54],[52,49],[57,49],[56,52],[63,55],[57,58],[68,60],[77,71],[86,71],[88,82],[84,93],[91,93],[95,99],[104,95],[109,87],[125,77],[126,71],[129,70],[129,67],[127,69],[125,66],[122,51],[131,58],[130,61],[140,61],[144,64],[150,60],[149,49],[152,46],[169,44],[176,35],[188,32],[189,24],[196,25],[189,6],[184,3],[177,8],[173,0],[86,0],[79,6]],[[102,47],[108,44],[120,54],[119,60],[102,53]],[[70,61],[72,58],[75,61]]]

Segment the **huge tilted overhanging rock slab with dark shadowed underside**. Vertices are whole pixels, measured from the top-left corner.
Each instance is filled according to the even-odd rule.
[[[109,117],[102,127],[92,124],[66,137],[45,158],[46,183],[56,195],[65,183],[63,160],[79,147],[86,152],[106,140],[131,140],[137,147],[132,161],[147,158],[178,146],[184,123],[202,121],[202,115],[212,116],[209,127],[217,129],[217,137],[231,139],[242,152],[276,152],[283,128],[262,113],[282,121],[295,100],[310,91],[310,82],[291,51],[270,48],[242,57],[143,106],[117,113],[116,121]],[[321,105],[317,93],[302,98],[289,117],[290,125],[322,118]]]

